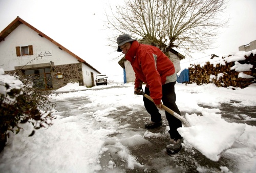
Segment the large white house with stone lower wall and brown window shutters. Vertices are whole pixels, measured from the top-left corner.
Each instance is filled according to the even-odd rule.
[[[0,52],[5,73],[36,76],[41,88],[58,89],[70,81],[93,87],[100,73],[20,17],[0,33]]]

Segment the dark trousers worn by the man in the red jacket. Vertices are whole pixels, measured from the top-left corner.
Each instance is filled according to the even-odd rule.
[[[174,112],[180,115],[178,106],[175,103],[176,101],[176,94],[174,90],[175,83],[176,82],[169,82],[162,85],[162,95],[163,95],[162,101],[163,101],[163,105],[165,105],[166,107],[168,107],[169,109],[173,110]],[[150,96],[150,89],[145,87],[144,93]],[[155,103],[153,103],[152,101],[148,100],[145,97],[143,97],[143,101],[144,101],[146,111],[151,115],[151,120],[153,122],[161,121],[162,120],[161,114],[159,113]],[[181,121],[166,111],[165,111],[165,116],[170,127],[170,130],[169,130],[170,138],[181,139],[182,137],[177,131],[177,128],[181,127]]]

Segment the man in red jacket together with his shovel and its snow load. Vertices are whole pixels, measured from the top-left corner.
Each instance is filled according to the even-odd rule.
[[[187,121],[180,116],[175,103],[174,85],[177,78],[173,62],[158,48],[139,44],[128,34],[120,35],[117,44],[117,51],[125,54],[125,59],[131,62],[134,69],[135,94],[141,93],[142,83],[146,83],[143,101],[146,111],[151,115],[151,121],[145,124],[145,128],[162,126],[158,109],[165,110],[170,127],[167,154],[178,153],[184,138],[208,159],[218,161],[221,153],[231,147],[244,132],[245,124],[228,123],[220,115],[207,112],[202,117],[187,114]],[[185,127],[182,127],[182,122]],[[223,133],[225,131],[230,133]]]

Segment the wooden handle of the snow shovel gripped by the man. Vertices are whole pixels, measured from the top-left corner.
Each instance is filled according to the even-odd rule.
[[[154,100],[149,95],[147,95],[143,92],[143,89],[141,89],[141,88],[139,88],[139,89],[140,89],[140,92],[137,93],[137,92],[134,91],[134,94],[142,95],[142,96],[146,97],[147,99],[151,100],[154,103]],[[185,127],[190,127],[191,126],[185,118],[183,118],[182,116],[180,116],[179,114],[177,114],[173,110],[169,109],[168,107],[166,107],[162,103],[161,103],[161,106],[162,106],[164,111],[168,112],[169,114],[172,114],[175,118],[179,119],[184,124]]]

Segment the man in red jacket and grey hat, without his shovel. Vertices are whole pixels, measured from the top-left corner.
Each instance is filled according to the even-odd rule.
[[[139,44],[129,34],[122,34],[117,38],[117,52],[123,52],[125,59],[131,62],[135,72],[134,92],[140,92],[142,83],[146,83],[145,94],[151,96],[153,101],[143,97],[146,111],[151,115],[151,121],[145,124],[145,128],[156,128],[162,126],[161,100],[169,109],[180,115],[176,105],[176,94],[174,85],[177,80],[175,67],[172,61],[157,47]],[[165,112],[169,123],[170,144],[166,146],[168,154],[179,152],[182,145],[182,137],[177,128],[181,127],[181,121]]]

